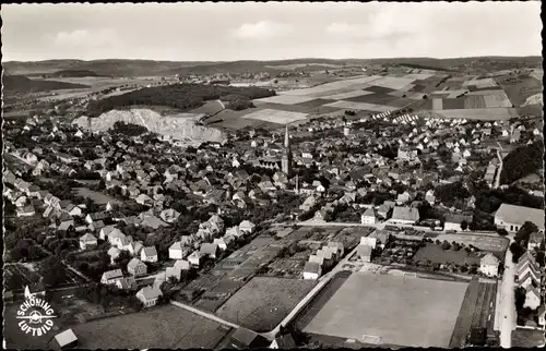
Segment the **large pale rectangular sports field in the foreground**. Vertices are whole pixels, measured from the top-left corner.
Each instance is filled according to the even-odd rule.
[[[305,332],[448,347],[467,283],[353,274]]]

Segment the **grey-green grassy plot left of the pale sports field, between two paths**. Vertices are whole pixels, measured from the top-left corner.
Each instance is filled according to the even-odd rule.
[[[312,289],[314,281],[254,277],[216,315],[254,331],[273,329]]]

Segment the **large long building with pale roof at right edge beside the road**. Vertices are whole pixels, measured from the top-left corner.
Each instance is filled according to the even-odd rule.
[[[495,214],[495,226],[506,229],[509,233],[518,232],[525,221],[533,222],[544,232],[543,209],[501,204]]]

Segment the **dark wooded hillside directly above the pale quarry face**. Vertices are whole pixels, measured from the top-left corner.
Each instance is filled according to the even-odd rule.
[[[203,84],[176,84],[146,87],[105,99],[91,101],[87,105],[87,114],[96,117],[112,109],[122,109],[130,106],[167,106],[188,111],[202,106],[207,100],[222,99],[229,96],[232,100],[251,100],[273,96],[274,90],[259,87],[234,87]]]

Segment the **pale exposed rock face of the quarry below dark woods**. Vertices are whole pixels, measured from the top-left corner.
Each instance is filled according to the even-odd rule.
[[[114,128],[114,123],[119,121],[142,125],[150,132],[168,135],[178,141],[191,141],[194,143],[224,143],[226,141],[226,136],[219,130],[197,125],[195,120],[199,117],[192,113],[161,116],[150,109],[111,110],[97,118],[82,116],[75,119],[72,124],[76,124],[79,128],[90,130],[91,132],[105,132]]]

